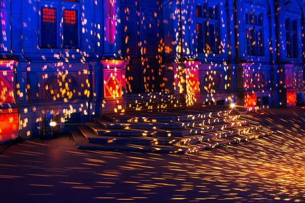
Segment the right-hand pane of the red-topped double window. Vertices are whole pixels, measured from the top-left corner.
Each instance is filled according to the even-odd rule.
[[[78,47],[78,11],[64,9],[64,47]]]

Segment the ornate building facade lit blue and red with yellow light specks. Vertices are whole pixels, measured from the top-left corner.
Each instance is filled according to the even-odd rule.
[[[140,110],[141,99],[304,103],[303,0],[0,3],[0,143]]]

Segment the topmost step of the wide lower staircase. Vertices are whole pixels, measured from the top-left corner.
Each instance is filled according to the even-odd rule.
[[[198,113],[199,112],[199,113]],[[202,109],[202,110],[189,110],[182,111],[178,113],[172,112],[127,112],[126,114],[105,114],[103,118],[119,123],[126,122],[174,122],[174,121],[192,121],[195,119],[203,119],[217,116],[229,115],[231,110],[212,110],[212,109]]]

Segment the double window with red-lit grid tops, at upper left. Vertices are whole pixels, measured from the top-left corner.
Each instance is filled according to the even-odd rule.
[[[70,2],[79,1],[40,7],[40,48],[79,47],[79,7]]]

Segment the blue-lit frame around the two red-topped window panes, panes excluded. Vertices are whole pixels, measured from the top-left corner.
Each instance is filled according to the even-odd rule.
[[[81,5],[82,5],[82,1],[79,0],[77,2],[71,2],[71,1],[65,1],[65,0],[58,0],[56,2],[54,1],[40,1],[38,8],[39,8],[39,42],[38,42],[38,46],[39,49],[44,49],[44,50],[48,50],[48,49],[80,49],[80,45],[81,45],[81,35],[80,35],[80,29],[81,29],[81,18],[80,18],[80,10],[81,10]],[[56,47],[42,47],[42,35],[41,35],[41,29],[42,29],[42,22],[41,22],[41,15],[42,15],[42,7],[46,7],[46,8],[56,8],[56,36],[57,36],[57,44]],[[64,9],[75,9],[77,10],[78,13],[78,22],[77,22],[77,33],[78,33],[78,43],[77,43],[77,47],[70,47],[70,46],[64,46]]]

